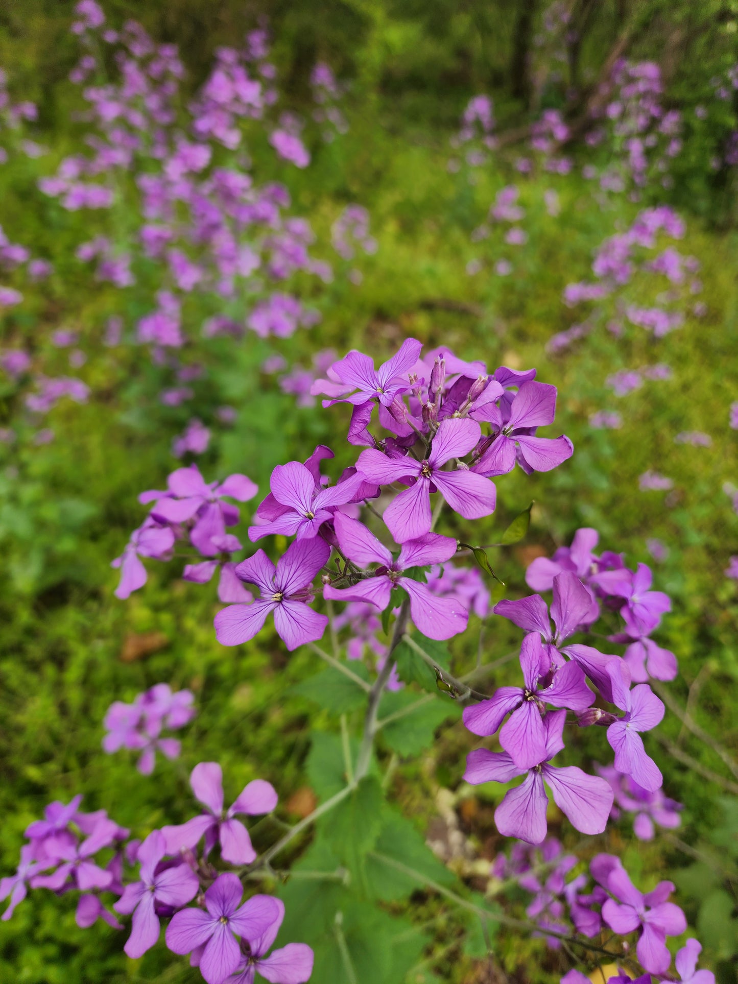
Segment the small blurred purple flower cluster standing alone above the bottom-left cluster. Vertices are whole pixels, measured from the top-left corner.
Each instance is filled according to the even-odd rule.
[[[132,704],[115,701],[105,714],[107,734],[102,739],[102,748],[108,754],[121,748],[141,752],[136,768],[150,775],[154,771],[156,751],[167,759],[179,756],[179,741],[161,737],[161,731],[164,728],[176,731],[189,723],[196,714],[192,707],[194,700],[189,690],[172,693],[168,684],[158,683],[139,694]]]

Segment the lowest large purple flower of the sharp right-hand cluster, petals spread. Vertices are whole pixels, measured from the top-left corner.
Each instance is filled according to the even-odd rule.
[[[604,779],[587,775],[576,766],[558,769],[549,766],[553,757],[564,748],[562,734],[566,710],[546,714],[546,751],[544,759],[533,769],[519,769],[507,752],[489,752],[478,748],[466,757],[466,782],[510,782],[525,775],[523,783],[505,793],[495,810],[497,830],[507,837],[518,837],[529,844],[539,844],[546,836],[548,796],[544,780],[553,793],[554,802],[566,814],[572,825],[583,833],[601,833],[607,826],[613,794]]]

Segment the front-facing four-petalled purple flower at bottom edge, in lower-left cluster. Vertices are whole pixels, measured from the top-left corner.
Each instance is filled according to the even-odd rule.
[[[208,984],[222,984],[238,969],[241,951],[235,936],[258,944],[279,918],[271,895],[254,895],[240,905],[242,896],[235,875],[220,875],[205,893],[207,911],[181,909],[166,927],[166,946],[172,953],[192,953],[190,962],[200,967]]]

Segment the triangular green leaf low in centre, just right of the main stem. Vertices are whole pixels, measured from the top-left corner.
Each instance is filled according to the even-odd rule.
[[[400,871],[383,858],[398,861],[403,868],[412,869],[419,877]],[[406,898],[422,888],[423,879],[452,888],[456,876],[442,864],[409,820],[389,808],[373,851],[366,859],[366,879],[375,898],[386,902]]]

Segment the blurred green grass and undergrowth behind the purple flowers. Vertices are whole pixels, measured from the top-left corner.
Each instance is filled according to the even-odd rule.
[[[288,185],[295,214],[306,215],[318,234],[319,255],[322,249],[330,258],[331,223],[350,202],[369,210],[379,249],[361,261],[360,286],[337,278],[319,293],[316,288],[322,313],[317,327],[288,342],[249,337],[215,345],[210,382],[201,394],[204,412],[225,401],[239,415],[198,460],[206,476],[242,470],[266,490],[277,463],[301,460],[319,442],[334,446],[341,463],[351,460],[340,409],[301,409],[260,372],[275,352],[307,365],[317,350],[342,353],[355,345],[380,361],[412,336],[428,345],[448,344],[490,367],[536,366],[539,379],[559,388],[557,433],[568,434],[576,452],[550,474],[524,478],[518,472],[499,482],[498,514],[487,521],[490,539],[530,498],[536,507],[523,545],[501,551],[495,569],[510,590],[522,592],[524,568],[536,552],[570,542],[581,525],[599,530],[601,547],[626,551],[631,566],[650,563],[654,586],[673,599],[658,636],[679,658],[671,693],[681,706],[689,699],[694,719],[735,756],[738,583],[723,571],[738,553],[738,517],[723,485],[738,484],[738,432],[728,422],[729,404],[738,400],[738,216],[734,168],[710,166],[710,160],[732,132],[738,96],[714,111],[710,98],[711,80],[738,61],[738,3],[575,0],[566,9],[578,40],[552,79],[534,45],[546,8],[533,2],[105,4],[111,23],[134,18],[156,39],[179,46],[191,92],[207,77],[215,48],[237,43],[264,16],[284,90],[297,110],[307,101],[317,59],[328,61],[348,84],[343,108],[349,130],[333,144],[312,147],[313,162],[304,172],[276,162],[265,142],[255,141],[249,150],[259,181]],[[121,301],[109,285],[92,282],[74,257],[89,238],[90,216],[63,211],[35,187],[37,177],[81,147],[84,130],[73,118],[79,96],[68,82],[79,51],[69,33],[72,16],[66,0],[11,0],[0,11],[0,66],[16,98],[38,103],[35,139],[50,150],[38,159],[11,157],[0,167],[0,224],[12,241],[54,264],[50,281],[29,296],[23,314],[0,321],[2,344],[25,338],[42,350],[47,334],[64,327],[81,332],[94,353],[83,373],[92,399],[52,411],[56,440],[0,450],[2,874],[15,869],[23,830],[51,799],[84,792],[88,809],[104,807],[140,835],[184,819],[191,809],[186,776],[203,760],[223,766],[226,797],[255,776],[272,780],[281,818],[294,821],[300,816],[294,794],[316,785],[307,760],[311,733],[334,728],[323,711],[316,715],[304,697],[290,694],[315,672],[314,657],[299,651],[287,658],[270,632],[236,650],[218,646],[213,593],[178,580],[176,564],[150,565],[149,584],[126,602],[112,594],[117,575],[109,562],[144,517],[136,497],[162,487],[176,465],[171,439],[188,412],[157,403],[161,377],[144,352],[116,350],[113,356],[101,346],[104,318],[128,304],[118,313],[130,322],[143,313],[140,301]],[[580,161],[565,176],[538,170],[522,177],[515,169],[523,152],[514,131],[545,108],[580,119],[618,44],[628,57],[661,65],[665,103],[684,112],[689,139],[675,162],[672,187],[649,187],[639,203],[625,194],[598,197]],[[498,130],[513,136],[472,181],[463,167],[451,173],[448,161],[463,107],[478,92],[493,97]],[[703,102],[710,103],[707,120],[691,112]],[[572,153],[577,159],[576,147]],[[470,235],[497,192],[512,183],[521,188],[528,239],[517,248],[513,273],[496,277],[490,264],[501,255],[500,244],[480,246]],[[551,190],[558,195],[558,215],[549,215],[544,204]],[[617,338],[598,324],[561,354],[548,354],[549,338],[582,319],[582,312],[576,317],[562,303],[565,286],[591,277],[596,248],[654,202],[672,205],[687,221],[678,247],[702,265],[705,312],[688,312],[683,328],[662,339],[638,329]],[[487,263],[470,276],[467,264],[480,256]],[[633,290],[644,303],[652,301],[647,277],[637,278]],[[194,334],[199,313],[188,317]],[[667,363],[672,378],[623,398],[607,388],[614,372],[654,362]],[[9,385],[0,391],[6,419],[16,399]],[[620,429],[589,425],[590,414],[603,408],[622,414]],[[706,432],[711,447],[675,443],[685,431]],[[642,492],[639,477],[647,469],[670,477],[673,489]],[[242,515],[243,539],[249,507]],[[668,550],[658,564],[646,549],[653,537]],[[507,623],[490,623],[486,661],[517,638]],[[452,643],[455,670],[473,664],[475,648],[475,638]],[[505,672],[496,682],[507,682]],[[161,680],[192,689],[199,715],[183,733],[180,763],[159,764],[154,776],[143,777],[126,753],[102,753],[101,722],[113,700],[131,700]],[[641,843],[626,822],[610,834],[609,846],[624,852],[629,870],[646,887],[659,877],[677,884],[690,925],[705,944],[707,965],[728,984],[736,980],[738,953],[735,777],[673,714],[661,734],[670,749],[653,742],[651,751],[656,749],[665,791],[685,804],[678,842],[656,837]],[[470,738],[459,720],[447,721],[421,757],[401,762],[395,772],[392,798],[420,834],[439,816],[439,790],[459,788],[465,753],[474,745]],[[588,740],[581,739],[582,755],[596,757],[596,743]],[[489,859],[504,838],[496,834],[484,796],[479,791],[478,799],[464,798],[472,805],[459,816],[479,856]],[[480,957],[464,946],[452,907],[422,892],[388,911],[420,934],[402,969],[382,978],[388,981],[523,984],[558,980],[568,966],[539,941],[503,932],[495,941],[495,961]],[[197,971],[163,948],[130,961],[106,926],[78,930],[69,897],[35,892],[0,927],[2,981],[196,979]]]

